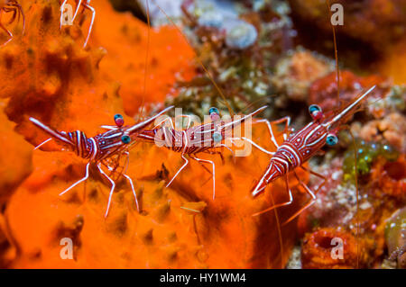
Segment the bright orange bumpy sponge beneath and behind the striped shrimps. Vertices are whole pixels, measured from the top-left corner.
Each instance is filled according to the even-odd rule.
[[[82,41],[77,40],[81,35],[75,33],[77,25],[69,33],[60,33],[57,1],[37,1],[27,21],[44,33],[30,29],[30,37],[21,46],[7,45],[0,51],[1,73],[9,71],[2,74],[6,85],[0,83],[2,97],[8,99],[6,113],[33,145],[47,138],[41,136],[42,130],[32,129],[28,116],[60,130],[80,127],[93,135],[116,112],[137,115],[143,96],[147,26],[129,14],[113,12],[107,1],[95,1],[94,7],[97,29],[92,31],[94,44],[88,49],[82,49]],[[46,26],[50,29],[43,29]],[[35,35],[38,43],[32,40]],[[32,49],[36,56],[21,53],[19,57],[24,49]],[[177,77],[175,72],[193,74],[195,66],[189,64],[189,46],[172,27],[151,31],[149,52],[145,103],[155,103],[153,109],[161,109],[168,86]],[[14,80],[10,80],[12,76]],[[150,115],[154,112],[145,110]],[[258,125],[253,134],[265,148],[269,142],[263,140],[263,134],[267,132]],[[42,150],[53,149],[54,144],[52,140]],[[32,148],[28,150],[31,154]],[[247,175],[259,175],[258,166],[266,165],[266,158],[256,150],[253,157],[235,159],[240,166],[237,170],[230,157],[225,155],[224,164],[213,158],[217,166],[223,164],[216,171],[217,198],[213,202],[208,193],[211,175],[198,163],[190,162],[187,172],[164,189],[171,166],[181,165],[179,154],[140,143],[129,151],[137,160],[132,160],[126,174],[137,180],[141,212],[137,212],[134,194],[122,177],[116,181],[114,208],[106,219],[102,215],[111,184],[98,174],[97,166],[89,166],[86,184],[61,198],[61,190],[83,177],[86,162],[70,153],[55,151],[50,156],[42,150],[33,153],[32,174],[7,202],[10,231],[20,250],[15,259],[7,257],[7,251],[5,258],[13,259],[10,267],[269,268],[286,263],[296,238],[294,224],[281,229],[284,240],[280,246],[273,215],[251,217],[270,201],[266,196],[251,201],[248,193],[252,182]],[[275,200],[281,201],[283,186],[274,184],[272,189]],[[291,208],[300,203],[294,202]],[[280,212],[281,217],[286,215]],[[73,260],[60,258],[61,237],[72,238]]]

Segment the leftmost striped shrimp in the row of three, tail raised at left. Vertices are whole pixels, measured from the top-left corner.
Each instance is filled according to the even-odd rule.
[[[131,185],[133,190],[135,204],[137,210],[139,211],[138,200],[134,190],[133,180],[130,176],[125,175],[125,168],[118,172],[118,167],[120,166],[120,159],[122,155],[125,156],[126,166],[129,162],[128,149],[131,147],[132,139],[134,135],[141,132],[144,128],[152,123],[156,118],[161,116],[161,114],[170,111],[173,106],[170,106],[161,112],[157,113],[148,120],[139,122],[132,126],[123,126],[124,120],[123,116],[115,115],[115,126],[102,126],[102,128],[107,131],[104,133],[97,134],[95,137],[87,138],[85,133],[80,130],[66,132],[53,130],[47,125],[43,124],[34,118],[30,118],[30,121],[34,123],[37,127],[44,130],[46,133],[51,135],[51,139],[56,139],[60,144],[69,148],[69,150],[76,152],[78,157],[88,159],[88,164],[86,165],[86,175],[79,179],[76,183],[70,185],[67,189],[60,193],[63,195],[68,193],[76,185],[86,181],[88,179],[88,169],[91,163],[95,163],[98,171],[101,175],[104,175],[106,179],[111,184],[110,194],[108,197],[108,203],[106,208],[105,217],[107,217],[108,211],[110,209],[111,199],[115,191],[115,181],[120,175],[123,175]],[[41,147],[43,144],[51,139],[47,139],[42,144],[36,148]],[[103,170],[102,166],[106,167],[107,173]],[[107,175],[108,174],[108,175]],[[115,179],[112,178],[115,175]]]

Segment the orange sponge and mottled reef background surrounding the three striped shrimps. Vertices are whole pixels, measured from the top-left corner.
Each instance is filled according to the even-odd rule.
[[[73,22],[62,21],[58,0],[0,5],[1,268],[406,267],[404,1],[331,1],[344,7],[334,26],[339,85],[324,0],[66,3],[79,8]],[[251,196],[271,158],[261,150],[201,156],[216,165],[213,200],[210,166],[191,161],[165,187],[180,153],[137,143],[126,175],[138,209],[121,177],[105,217],[110,182],[90,166],[60,196],[87,160],[56,142],[34,149],[49,136],[29,121],[94,137],[115,114],[133,125],[170,105],[203,118],[212,106],[223,115],[267,104],[257,118],[290,116],[300,130],[310,104],[334,112],[373,85],[337,145],[298,168],[317,199],[285,225],[310,197],[290,176],[293,202],[253,216],[289,199],[283,180]],[[252,131],[276,150],[266,125]],[[334,238],[342,256],[332,256]]]

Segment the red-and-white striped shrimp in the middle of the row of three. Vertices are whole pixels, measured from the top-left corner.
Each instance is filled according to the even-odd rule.
[[[146,142],[155,143],[159,147],[169,148],[175,152],[180,152],[181,157],[184,160],[183,166],[177,171],[177,173],[171,178],[171,181],[166,185],[170,186],[173,180],[180,174],[180,171],[188,166],[189,159],[185,157],[189,155],[191,159],[198,161],[199,163],[208,163],[212,166],[212,179],[213,179],[213,199],[216,195],[216,174],[215,174],[215,164],[213,161],[208,159],[198,158],[198,153],[209,153],[209,154],[218,154],[222,157],[222,153],[217,150],[217,148],[228,148],[225,144],[225,140],[229,139],[233,141],[234,139],[242,139],[252,143],[256,148],[260,148],[263,152],[268,152],[266,149],[259,147],[251,139],[247,138],[229,138],[229,132],[234,129],[236,126],[244,123],[248,119],[252,119],[254,115],[259,112],[263,112],[267,106],[263,106],[258,110],[241,117],[235,121],[219,121],[219,115],[217,108],[211,108],[209,113],[212,119],[212,122],[208,122],[202,125],[194,126],[187,128],[186,130],[175,130],[173,122],[170,118],[167,118],[165,121],[170,122],[171,127],[163,126],[161,121],[156,127],[152,130],[143,130],[138,133],[136,137]],[[181,115],[182,117],[189,118],[188,115]],[[262,122],[253,121],[253,123]],[[189,118],[190,123],[190,118]],[[188,124],[189,126],[189,124]],[[270,127],[270,126],[269,126]],[[272,130],[271,130],[272,132]]]

